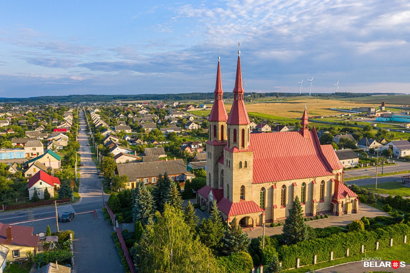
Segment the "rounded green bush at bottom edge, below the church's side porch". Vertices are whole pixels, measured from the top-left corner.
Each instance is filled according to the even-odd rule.
[[[253,268],[253,260],[249,253],[241,251],[229,256],[217,257],[218,265],[223,272],[248,273]]]

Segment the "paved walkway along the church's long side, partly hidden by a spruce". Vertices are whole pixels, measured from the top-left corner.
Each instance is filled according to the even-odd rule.
[[[382,212],[381,210],[375,209],[374,207],[369,207],[360,203],[360,214],[351,214],[345,216],[330,216],[329,218],[324,218],[315,221],[306,222],[308,225],[312,227],[330,227],[330,226],[337,226],[337,225],[347,225],[351,223],[353,220],[359,220],[363,216],[374,218],[376,216],[389,216],[386,212]],[[257,238],[262,236],[262,227],[257,227],[255,230],[246,230],[248,233],[249,238]],[[265,235],[272,236],[276,234],[283,233],[283,226],[280,227],[269,227],[267,224],[265,227]]]

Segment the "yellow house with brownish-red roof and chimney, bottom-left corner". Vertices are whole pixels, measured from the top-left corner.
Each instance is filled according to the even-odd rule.
[[[39,236],[33,235],[34,227],[0,223],[0,245],[9,249],[6,260],[27,259],[27,251],[37,253]]]

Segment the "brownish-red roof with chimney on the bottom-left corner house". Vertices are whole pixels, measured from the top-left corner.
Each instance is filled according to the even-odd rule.
[[[7,240],[6,228],[11,227],[11,241]],[[7,225],[0,223],[0,243],[13,246],[32,246],[39,244],[39,236],[33,235],[34,227],[24,227],[22,225]]]

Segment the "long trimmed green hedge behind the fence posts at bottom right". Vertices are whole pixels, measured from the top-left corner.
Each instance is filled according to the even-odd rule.
[[[365,252],[376,250],[376,241],[379,242],[379,248],[389,246],[390,238],[393,238],[393,244],[402,244],[405,235],[410,235],[410,226],[396,224],[374,231],[338,233],[327,238],[302,241],[290,246],[284,245],[278,249],[278,254],[282,261],[282,268],[288,269],[296,267],[298,258],[300,266],[313,264],[314,254],[317,255],[317,262],[324,262],[330,260],[332,251],[333,259],[336,259],[346,257],[347,248],[349,248],[349,255],[359,254],[362,245]]]

